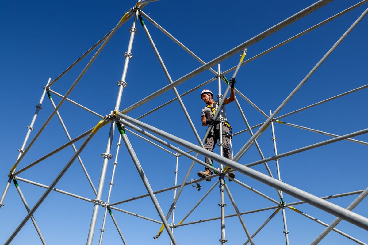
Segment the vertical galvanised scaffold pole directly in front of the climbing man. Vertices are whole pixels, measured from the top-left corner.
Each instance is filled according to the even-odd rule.
[[[220,71],[220,64],[217,64],[217,81],[219,86],[219,94],[216,96],[219,102],[219,106],[221,105],[222,100],[222,94],[221,94],[221,71]],[[214,118],[217,121],[218,127],[219,127],[219,140],[220,142],[217,144],[220,147],[220,156],[223,155],[223,141],[222,141],[222,121],[224,120],[221,113],[221,108],[217,107],[217,111],[219,111],[219,114],[217,118]],[[216,129],[215,129],[216,130]],[[220,163],[220,173],[223,173],[223,164]],[[227,242],[225,240],[225,195],[224,195],[224,175],[220,174],[220,200],[219,206],[221,207],[221,239],[219,241],[222,245]]]

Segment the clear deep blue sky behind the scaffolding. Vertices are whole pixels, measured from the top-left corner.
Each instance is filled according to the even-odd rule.
[[[264,30],[283,21],[314,1],[168,1],[160,0],[144,7],[144,12],[159,25],[176,37],[181,43],[193,51],[199,58],[208,62],[231,48],[251,39]],[[336,0],[321,9],[312,12],[299,21],[287,26],[273,35],[248,47],[245,60],[267,50],[276,44],[296,35],[303,30],[318,24],[332,15],[345,10],[357,0]],[[0,195],[8,181],[7,174],[17,159],[22,147],[27,126],[31,124],[47,80],[59,76],[75,60],[116,26],[131,7],[134,1],[6,1],[0,10],[1,32],[1,66],[0,82],[1,104],[3,118],[1,120],[1,155],[0,165]],[[262,57],[243,65],[236,77],[236,88],[263,112],[275,109],[284,101],[291,91],[299,84],[309,71],[318,63],[333,44],[343,35],[351,24],[364,12],[367,4],[339,17],[306,35],[263,55]],[[114,109],[118,86],[124,66],[124,53],[127,51],[133,19],[127,21],[103,49],[91,68],[85,73],[69,98],[100,115],[109,114]],[[145,20],[146,26],[160,52],[160,55],[170,73],[172,80],[177,80],[201,66],[193,57],[183,51],[171,39]],[[166,86],[169,82],[164,75],[155,53],[142,29],[137,24],[138,33],[132,46],[133,58],[129,62],[120,109],[125,109],[142,98]],[[278,115],[284,115],[299,108],[314,104],[337,94],[355,89],[367,84],[367,29],[368,20],[365,17],[360,24],[346,37],[328,59],[319,67],[310,79],[301,87],[296,95],[286,104]],[[96,50],[95,50],[96,51]],[[71,69],[63,78],[57,81],[51,89],[65,94],[71,84],[77,79],[93,51],[77,66]],[[239,53],[240,54],[240,53]],[[226,71],[237,65],[240,56],[234,55],[220,63],[221,70]],[[213,66],[217,69],[217,65]],[[226,75],[231,77],[233,72]],[[212,72],[205,71],[192,79],[180,84],[177,90],[180,94],[213,78]],[[205,106],[199,99],[202,89],[210,89],[217,94],[217,81],[195,90],[183,97],[191,119],[198,134],[203,137],[205,127],[201,126],[201,109]],[[222,93],[225,87],[222,86]],[[365,104],[367,89],[326,102],[297,114],[280,119],[316,130],[336,135],[344,135],[367,128]],[[128,113],[137,118],[148,111],[174,98],[172,91],[144,104]],[[57,103],[60,98],[52,94]],[[251,126],[258,125],[266,118],[237,95],[241,108]],[[42,104],[42,110],[36,119],[35,130],[32,131],[28,143],[43,125],[53,108],[47,96]],[[226,107],[227,117],[233,127],[233,133],[245,129],[244,120],[235,103]],[[61,117],[72,138],[91,129],[99,122],[99,117],[92,115],[75,105],[65,102],[59,110]],[[143,122],[165,130],[184,140],[198,144],[187,120],[177,101],[159,109],[141,119]],[[254,132],[258,128],[254,129]],[[103,189],[103,200],[106,201],[111,181],[113,160],[116,156],[118,132],[113,139],[112,155],[106,174],[106,184]],[[279,123],[275,124],[277,151],[279,154],[292,151],[307,145],[315,144],[331,137],[322,134],[297,129]],[[109,126],[98,131],[81,154],[82,161],[93,184],[98,185],[105,152]],[[176,157],[156,148],[152,144],[128,133],[131,144],[147,175],[153,190],[170,187],[174,184]],[[233,148],[236,154],[248,141],[248,132],[234,136]],[[270,140],[270,127],[258,139],[263,155],[267,158],[275,155],[273,143]],[[355,137],[357,140],[368,141],[367,135]],[[17,170],[39,159],[53,149],[68,141],[56,116],[50,121],[30,151],[22,159]],[[76,143],[78,148],[82,141]],[[177,145],[181,149],[184,147]],[[301,190],[319,197],[346,193],[367,188],[367,145],[340,141],[306,152],[280,159],[282,180]],[[174,152],[173,150],[170,150]],[[218,151],[217,151],[218,152]],[[21,173],[19,177],[49,185],[68,162],[73,154],[72,148],[47,158],[42,163]],[[203,158],[202,156],[200,157]],[[261,159],[253,145],[240,159],[239,163],[247,164]],[[110,202],[117,202],[146,193],[145,187],[133,165],[124,144],[120,148],[112,188]],[[191,160],[179,158],[178,183],[183,181]],[[275,162],[269,162],[273,176],[277,176]],[[219,167],[215,163],[215,167]],[[203,170],[198,163],[190,173],[189,179],[197,179],[197,172]],[[265,166],[253,167],[266,173]],[[276,191],[265,184],[252,180],[237,173],[237,179],[259,190],[271,198],[279,200]],[[199,199],[215,183],[202,181],[201,191],[190,186],[185,187],[177,203],[175,222],[178,223],[199,201]],[[33,206],[45,191],[44,188],[18,181],[29,206]],[[241,212],[275,206],[273,202],[254,194],[234,183],[228,183],[238,208]],[[72,192],[85,198],[94,199],[94,193],[89,185],[78,161],[75,161],[68,172],[56,185],[56,188]],[[225,195],[226,196],[226,195]],[[163,213],[166,215],[172,199],[173,191],[157,194]],[[330,201],[347,207],[357,195],[335,198]],[[298,201],[284,194],[286,203]],[[226,215],[233,214],[234,209],[226,196]],[[185,220],[185,222],[208,219],[220,216],[220,192],[216,186],[209,196]],[[3,224],[0,233],[0,243],[4,243],[15,228],[26,216],[26,210],[12,183],[0,209],[0,220]],[[367,200],[354,209],[360,215],[368,216]],[[117,205],[117,208],[132,213],[160,220],[155,212],[151,199],[142,198],[136,201]],[[311,205],[296,205],[295,208],[325,223],[330,223],[335,217]],[[84,244],[91,222],[93,204],[52,192],[35,212],[35,219],[45,237],[47,244]],[[93,244],[98,244],[100,228],[102,227],[104,208],[99,209]],[[254,231],[272,214],[272,210],[243,215],[250,233]],[[154,240],[160,224],[143,220],[113,210],[127,244],[169,244],[166,231],[160,240]],[[324,227],[316,222],[286,209],[287,228],[290,231],[290,244],[309,244],[323,231]],[[184,223],[185,223],[184,222]],[[171,217],[169,219],[171,223]],[[216,244],[221,239],[220,220],[183,226],[174,230],[179,244]],[[368,241],[368,232],[362,228],[342,221],[336,228],[363,241]],[[103,244],[117,243],[121,240],[110,217],[106,219],[106,232]],[[282,214],[279,212],[261,232],[254,238],[255,244],[284,244],[284,227]],[[227,244],[243,244],[247,240],[237,217],[226,219]],[[11,244],[41,244],[31,220],[22,228]],[[219,242],[218,242],[219,243]],[[335,232],[331,232],[320,244],[355,244]]]

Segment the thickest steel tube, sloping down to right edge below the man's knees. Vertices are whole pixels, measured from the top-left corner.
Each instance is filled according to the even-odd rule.
[[[351,212],[349,210],[346,210],[336,204],[330,203],[326,200],[323,200],[321,198],[316,197],[315,195],[312,195],[308,192],[302,191],[296,187],[293,187],[289,184],[286,184],[284,182],[281,182],[279,180],[273,179],[263,173],[260,173],[254,169],[251,169],[249,167],[243,166],[240,163],[234,162],[232,160],[229,160],[227,158],[224,158],[223,156],[219,156],[213,152],[207,151],[206,149],[203,149],[197,145],[194,145],[188,141],[185,141],[181,138],[178,138],[176,136],[173,136],[169,133],[166,133],[162,130],[156,129],[152,126],[146,125],[145,123],[139,122],[138,120],[135,120],[134,118],[131,118],[127,115],[121,114],[121,113],[117,113],[117,116],[120,118],[123,118],[125,120],[129,120],[130,122],[133,122],[134,124],[143,127],[146,130],[155,130],[155,132],[157,134],[159,134],[162,137],[168,138],[171,141],[173,141],[174,143],[183,145],[184,147],[187,147],[189,149],[192,149],[195,152],[201,153],[202,155],[205,155],[211,159],[214,159],[217,162],[223,162],[226,166],[229,166],[255,180],[258,180],[264,184],[267,184],[273,188],[277,188],[283,192],[286,192],[287,194],[298,198],[302,201],[305,201],[319,209],[322,209],[332,215],[335,215],[337,217],[340,217],[356,226],[359,226],[361,228],[364,228],[366,230],[368,230],[368,219],[364,216],[358,215],[357,213]],[[355,132],[353,134],[362,134],[362,133],[366,133],[368,132],[368,129],[365,130],[361,130],[358,132]],[[349,134],[348,136],[350,137],[352,134]],[[338,137],[339,138],[339,137]],[[333,141],[333,140],[337,140],[338,138],[334,138],[331,140],[328,140],[329,142]],[[282,155],[282,154],[281,154]],[[264,160],[261,160],[264,161]]]

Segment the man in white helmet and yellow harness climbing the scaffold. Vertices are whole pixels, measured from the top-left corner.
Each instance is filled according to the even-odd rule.
[[[233,159],[231,155],[231,150],[229,147],[231,133],[230,133],[230,124],[229,122],[227,122],[227,119],[226,119],[225,105],[235,100],[235,89],[234,89],[235,79],[234,78],[230,79],[229,82],[231,84],[230,97],[224,99],[223,106],[221,108],[221,116],[222,118],[224,118],[222,122],[216,121],[215,119],[213,119],[213,115],[215,114],[215,111],[217,110],[217,107],[218,107],[218,101],[213,100],[213,93],[210,90],[205,89],[201,93],[201,99],[207,104],[207,106],[202,109],[202,126],[210,127],[210,125],[213,125],[210,133],[207,136],[205,149],[213,152],[213,149],[215,148],[217,140],[219,140],[219,131],[220,131],[219,123],[222,123],[222,142],[224,143],[223,144],[223,154],[224,154],[224,157],[231,160]],[[207,158],[206,158],[206,163],[208,165],[211,165],[211,162],[209,162]],[[204,172],[202,171],[198,172],[198,176],[202,178],[210,176],[211,174],[212,174],[212,170],[210,170],[208,167],[205,168]],[[234,178],[235,174],[231,172],[229,173],[229,176]],[[211,181],[211,179],[206,179],[206,180]]]

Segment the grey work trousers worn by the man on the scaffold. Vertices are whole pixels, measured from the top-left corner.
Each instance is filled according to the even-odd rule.
[[[216,146],[216,143],[217,143],[217,140],[219,140],[219,132],[220,130],[219,129],[214,129],[214,127],[212,128],[212,131],[209,133],[207,139],[206,139],[206,144],[205,144],[205,149],[206,150],[209,150],[209,151],[212,151],[213,152],[213,149],[215,149],[215,146]],[[231,156],[231,150],[230,150],[230,128],[226,125],[222,125],[222,142],[224,143],[222,149],[223,149],[223,154],[224,154],[224,157],[226,157],[227,159],[233,159],[233,156]],[[207,158],[206,159],[206,163],[208,165],[211,165],[212,163],[212,160],[211,162],[208,161]]]

